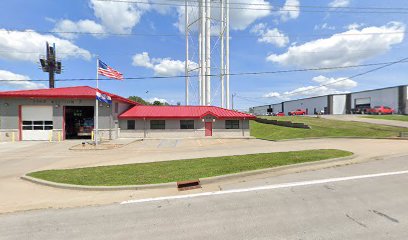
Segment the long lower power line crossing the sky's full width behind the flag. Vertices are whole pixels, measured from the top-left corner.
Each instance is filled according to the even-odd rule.
[[[393,62],[382,62],[382,63],[369,63],[369,64],[359,64],[359,65],[348,65],[348,66],[336,66],[336,67],[317,67],[317,68],[304,68],[304,69],[292,69],[292,70],[278,70],[278,71],[263,71],[263,72],[241,72],[241,73],[230,73],[230,76],[245,76],[245,75],[264,75],[264,74],[280,74],[280,73],[293,73],[293,72],[309,72],[309,71],[326,71],[326,70],[339,70],[339,69],[348,69],[348,68],[360,68],[360,67],[369,67],[369,66],[379,66],[386,65],[390,66],[396,63],[408,62],[407,59],[393,61]],[[379,69],[384,68],[380,67]],[[370,70],[371,72],[371,70]],[[227,75],[227,74],[224,74]],[[210,74],[207,75],[210,77],[219,77],[219,74]],[[138,76],[138,77],[127,77],[123,78],[124,80],[145,80],[145,79],[171,79],[171,78],[185,78],[185,75],[176,75],[176,76]],[[198,75],[190,75],[190,77],[198,77]],[[352,76],[356,77],[356,76]],[[58,79],[55,81],[65,82],[65,81],[94,81],[96,78],[67,78],[67,79]],[[104,81],[116,81],[111,79],[99,79]],[[44,82],[48,81],[45,79],[0,79],[0,82],[13,82],[13,81],[31,81],[31,82]]]

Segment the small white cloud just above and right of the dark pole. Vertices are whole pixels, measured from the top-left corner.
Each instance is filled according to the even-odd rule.
[[[58,32],[58,35],[60,35],[63,38],[75,39],[78,36],[75,32],[104,33],[105,29],[102,25],[88,19],[79,20],[78,22],[73,22],[71,20],[64,19],[57,22],[53,31]],[[101,34],[92,35],[96,37],[103,36]]]

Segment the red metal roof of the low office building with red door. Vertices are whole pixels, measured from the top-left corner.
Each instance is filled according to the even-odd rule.
[[[216,118],[226,119],[255,119],[255,116],[214,106],[134,106],[122,113],[121,119],[163,119],[163,118],[203,118],[213,115]]]

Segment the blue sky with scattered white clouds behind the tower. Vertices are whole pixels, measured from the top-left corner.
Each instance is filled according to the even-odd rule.
[[[231,2],[260,4],[236,4],[243,9],[231,10],[231,73],[337,67],[408,57],[408,4],[403,1]],[[183,75],[185,40],[180,28],[184,23],[179,21],[183,19],[182,7],[160,3],[180,5],[183,1],[5,1],[0,10],[0,79],[19,81],[1,81],[0,90],[44,87],[30,80],[47,79],[37,63],[44,54],[45,41],[56,43],[63,61],[64,72],[57,79],[95,78],[96,56],[125,77]],[[367,9],[373,7],[396,9]],[[95,32],[106,34],[89,34]],[[192,34],[194,53],[196,33]],[[217,63],[219,59],[214,56],[215,73]],[[238,96],[236,108],[248,109],[284,99],[407,84],[406,66],[400,63],[340,82],[336,81],[374,67],[231,76],[231,93]],[[95,86],[95,82],[57,82],[57,87],[75,85]],[[219,86],[219,79],[213,78],[215,105],[220,102]],[[184,102],[182,78],[103,81],[101,88],[125,97]],[[192,102],[197,99],[196,88],[196,79],[192,79]]]

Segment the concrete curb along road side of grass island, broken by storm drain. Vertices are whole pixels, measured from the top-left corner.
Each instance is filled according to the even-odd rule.
[[[217,183],[220,181],[225,180],[234,180],[254,175],[261,175],[266,173],[275,173],[280,171],[287,171],[292,170],[294,172],[305,171],[305,170],[317,170],[329,166],[339,166],[339,165],[346,165],[352,163],[352,159],[356,158],[357,155],[353,154],[348,157],[342,158],[333,158],[327,160],[321,160],[316,162],[306,162],[306,163],[298,163],[292,164],[287,166],[280,166],[274,168],[266,168],[266,169],[259,169],[253,171],[246,171],[241,173],[233,173],[227,174],[222,176],[215,176],[215,177],[208,177],[208,178],[200,178],[201,184],[211,184]],[[313,168],[314,167],[314,168]],[[146,184],[146,185],[128,185],[128,186],[81,186],[81,185],[73,185],[73,184],[64,184],[64,183],[56,183],[50,182],[38,178],[33,178],[27,175],[21,177],[21,179],[40,184],[48,187],[54,188],[62,188],[62,189],[70,189],[70,190],[83,190],[83,191],[122,191],[122,190],[147,190],[147,189],[170,189],[170,188],[177,188],[176,182],[170,183],[160,183],[160,184]]]

